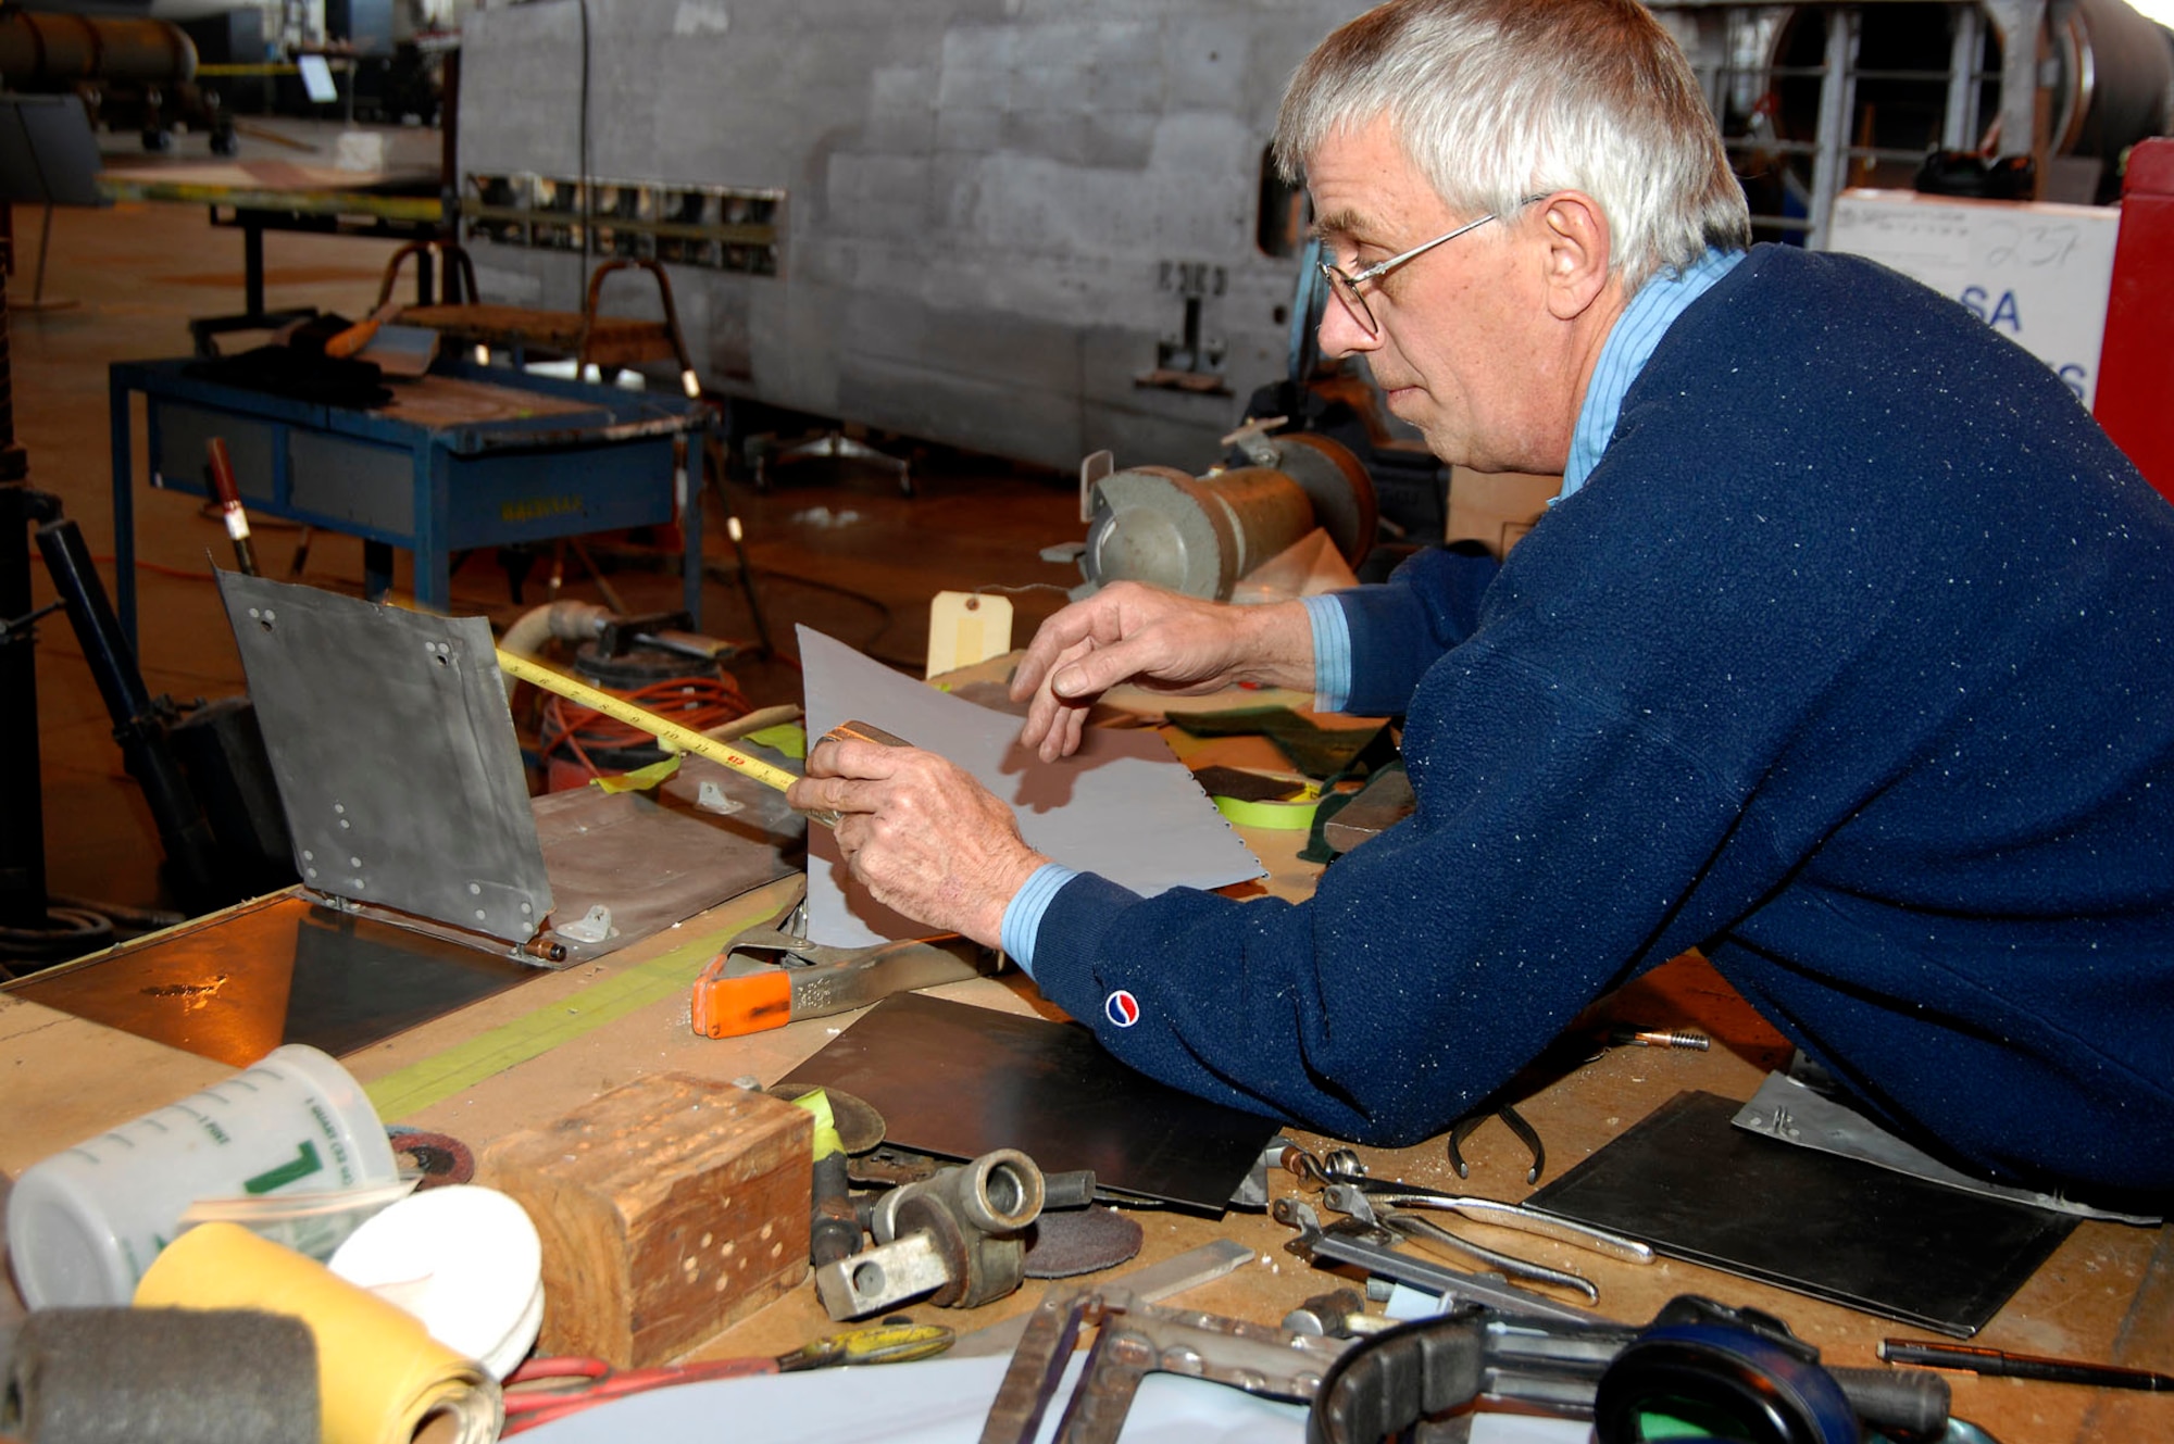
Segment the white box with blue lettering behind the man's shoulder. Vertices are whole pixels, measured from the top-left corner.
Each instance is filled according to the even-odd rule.
[[[2120,207],[1844,191],[1828,250],[1872,257],[1963,304],[2089,407]]]

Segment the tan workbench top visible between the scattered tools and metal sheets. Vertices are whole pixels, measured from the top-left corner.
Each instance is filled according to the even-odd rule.
[[[1200,759],[1189,759],[1198,761]],[[1217,757],[1217,761],[1230,761]],[[1302,837],[1241,829],[1270,868],[1265,892],[1296,894],[1311,872],[1296,861]],[[852,1022],[817,1018],[737,1040],[707,1040],[689,1024],[685,985],[628,989],[661,976],[663,963],[707,957],[730,935],[780,911],[798,885],[772,883],[637,946],[537,979],[474,1003],[459,1013],[411,1029],[348,1055],[346,1066],[372,1087],[385,1122],[448,1133],[480,1153],[517,1129],[550,1122],[598,1094],[652,1072],[774,1083]],[[933,989],[937,996],[1015,1013],[1059,1013],[1020,974],[976,979]],[[630,1005],[630,998],[648,998]],[[1548,1177],[1559,1177],[1681,1090],[1750,1098],[1789,1048],[1704,961],[1696,957],[1639,979],[1602,1009],[1641,1026],[1696,1029],[1713,1037],[1709,1053],[1611,1048],[1548,1085],[1520,1111],[1548,1146]],[[128,1037],[50,1009],[0,996],[0,1083],[9,1092],[9,1126],[0,1131],[0,1168],[9,1174],[89,1133],[172,1103],[230,1070],[222,1063]],[[1320,1150],[1335,1140],[1296,1133]],[[1361,1148],[1370,1174],[1515,1200],[1526,1192],[1522,1146],[1498,1124],[1465,1144],[1470,1179],[1448,1166],[1444,1140],[1415,1148]],[[1296,1179],[1272,1177],[1272,1196],[1294,1194]],[[1133,1264],[1154,1264],[1198,1244],[1230,1237],[1254,1264],[1183,1296],[1187,1307],[1278,1322],[1294,1305],[1341,1279],[1311,1270],[1283,1250],[1291,1237],[1265,1213],[1230,1211],[1220,1220],[1176,1211],[1139,1211],[1146,1244]],[[1463,1229],[1463,1224],[1459,1224]],[[1731,1274],[1663,1259],[1650,1268],[1613,1264],[1530,1235],[1487,1237],[1544,1264],[1574,1268],[1600,1285],[1600,1311],[1646,1322],[1672,1296],[1694,1292],[1731,1305],[1752,1305],[1789,1320],[1826,1361],[1874,1366],[1881,1337],[1920,1333],[1839,1305],[1787,1294]],[[915,1318],[967,1333],[1024,1314],[1046,1287],[1028,1281],[1011,1298],[972,1311],[917,1307]],[[815,1300],[813,1285],[733,1327],[694,1357],[776,1355],[837,1324]],[[2131,1368],[2174,1368],[2174,1233],[2111,1222],[2083,1222],[1978,1335],[1978,1344],[2015,1353],[2100,1359]],[[2174,1437],[2174,1398],[1950,1374],[1954,1414],[2002,1444],[2133,1444]]]

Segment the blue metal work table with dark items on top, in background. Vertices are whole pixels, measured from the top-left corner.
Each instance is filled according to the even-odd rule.
[[[207,444],[220,437],[248,511],[413,550],[415,600],[428,611],[448,609],[452,552],[654,526],[678,513],[685,607],[702,624],[700,433],[711,413],[700,402],[439,363],[389,383],[387,407],[328,407],[191,376],[196,365],[115,361],[109,372],[113,592],[128,646],[137,646],[135,391],[150,485],[209,496]],[[391,568],[365,572],[378,600]]]

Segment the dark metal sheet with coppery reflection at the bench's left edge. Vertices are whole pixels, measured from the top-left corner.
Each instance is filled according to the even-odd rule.
[[[7,992],[246,1068],[280,1044],[354,1053],[533,976],[509,957],[285,892]]]

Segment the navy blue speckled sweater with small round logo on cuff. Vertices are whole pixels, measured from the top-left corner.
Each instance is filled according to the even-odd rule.
[[[1300,905],[1067,883],[1035,979],[1111,1053],[1413,1142],[1698,946],[1891,1124],[2174,1194],[2174,509],[2039,361],[1761,246],[1500,570],[1341,605],[1417,813]]]

